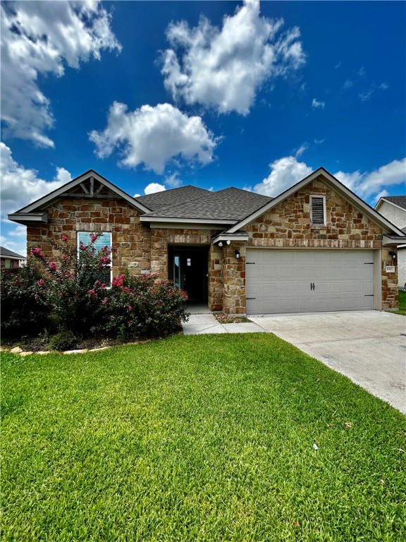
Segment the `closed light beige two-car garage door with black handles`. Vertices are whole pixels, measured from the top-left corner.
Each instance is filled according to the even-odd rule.
[[[373,251],[247,248],[247,314],[374,308]]]

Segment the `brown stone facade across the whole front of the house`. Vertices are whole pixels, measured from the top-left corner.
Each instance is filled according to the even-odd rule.
[[[326,197],[326,225],[310,221],[310,195]],[[48,239],[66,235],[71,246],[76,246],[77,232],[111,232],[113,276],[128,268],[131,274],[152,272],[168,278],[169,246],[207,246],[208,301],[211,311],[242,315],[245,301],[245,253],[248,247],[266,248],[345,248],[382,251],[382,308],[398,306],[397,272],[387,273],[394,265],[389,251],[383,247],[383,230],[343,199],[321,179],[316,179],[293,193],[264,215],[247,224],[247,243],[225,244],[211,241],[220,231],[215,229],[155,228],[140,222],[140,213],[116,193],[101,191],[99,198],[66,196],[47,207],[47,224],[38,223],[27,228],[27,249],[42,248],[49,257],[59,257]],[[240,258],[235,258],[235,250]],[[395,267],[397,270],[397,267]]]

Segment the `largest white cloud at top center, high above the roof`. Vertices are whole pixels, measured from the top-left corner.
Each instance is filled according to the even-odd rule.
[[[161,73],[174,100],[247,114],[261,85],[305,63],[297,27],[280,33],[283,20],[259,16],[259,0],[245,0],[222,28],[203,16],[199,25],[172,23],[171,49]]]

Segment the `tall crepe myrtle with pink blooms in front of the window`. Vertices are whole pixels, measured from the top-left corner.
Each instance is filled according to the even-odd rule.
[[[2,308],[4,302],[13,307],[21,299],[28,308],[26,314],[22,308],[3,313],[4,329],[32,336],[40,324],[40,330],[86,335],[95,325],[94,315],[106,287],[99,277],[111,263],[109,247],[97,251],[94,246],[100,235],[90,234],[89,243],[80,243],[78,251],[68,244],[66,236],[60,241],[50,239],[54,251],[59,252],[58,263],[41,248],[33,248],[20,275],[8,277],[1,285]]]

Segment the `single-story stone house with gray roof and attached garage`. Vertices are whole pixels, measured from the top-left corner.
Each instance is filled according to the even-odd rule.
[[[228,314],[396,308],[390,253],[406,236],[323,168],[269,198],[238,188],[184,186],[132,198],[95,171],[8,218],[27,249],[52,253],[103,232],[112,276],[152,272]]]

